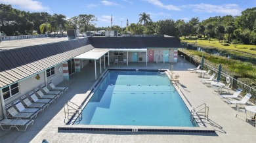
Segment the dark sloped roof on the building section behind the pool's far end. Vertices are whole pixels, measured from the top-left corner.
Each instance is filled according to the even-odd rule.
[[[89,37],[95,48],[184,48],[176,37]]]

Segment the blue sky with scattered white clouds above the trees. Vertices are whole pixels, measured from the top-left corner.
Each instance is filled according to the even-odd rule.
[[[139,22],[139,14],[150,14],[158,20],[184,20],[198,17],[200,21],[214,16],[239,16],[247,8],[256,7],[256,0],[0,0],[0,3],[30,12],[63,14],[67,18],[93,14],[96,27],[113,25],[125,27]]]

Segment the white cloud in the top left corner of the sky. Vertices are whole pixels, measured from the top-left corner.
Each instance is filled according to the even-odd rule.
[[[0,0],[0,3],[7,5],[16,5],[24,10],[49,11],[49,7],[44,7],[39,1],[34,0]]]

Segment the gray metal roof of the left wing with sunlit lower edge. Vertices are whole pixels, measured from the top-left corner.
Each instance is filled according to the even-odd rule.
[[[77,39],[0,51],[0,88],[92,50],[89,40]]]

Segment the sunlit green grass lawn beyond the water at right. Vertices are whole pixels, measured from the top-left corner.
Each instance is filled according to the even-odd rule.
[[[205,46],[205,47],[214,47],[214,48],[221,48],[223,50],[235,50],[238,52],[245,52],[247,54],[253,54],[256,56],[256,50],[250,50],[250,48],[256,48],[256,45],[250,45],[250,44],[238,44],[236,48],[234,48],[233,44],[229,44],[228,46],[223,46],[221,43],[219,43],[219,40],[211,39],[209,40],[184,40],[184,38],[181,38],[182,42],[190,42],[195,43],[198,46]]]

